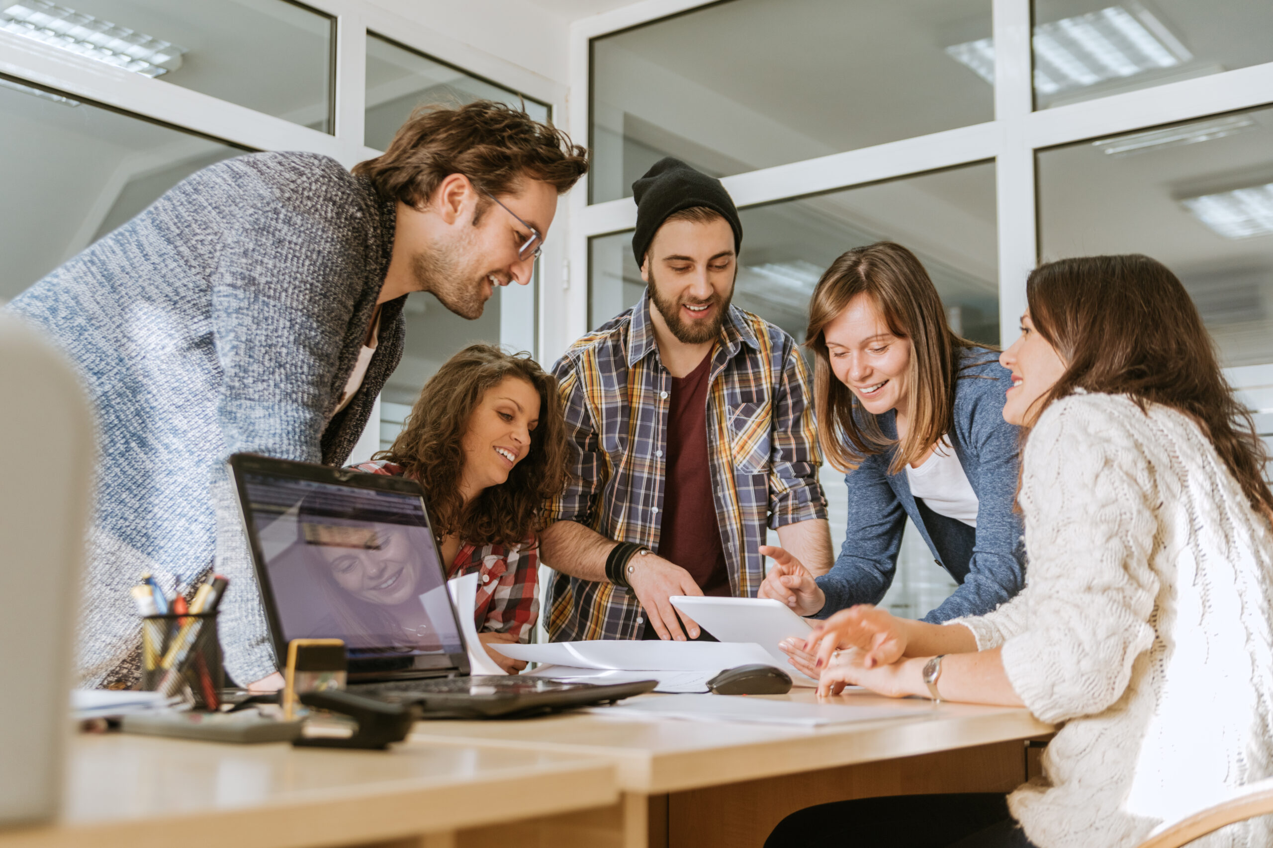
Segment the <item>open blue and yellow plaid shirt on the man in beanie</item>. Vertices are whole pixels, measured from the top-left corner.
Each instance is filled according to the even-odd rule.
[[[764,580],[765,528],[826,517],[808,375],[791,336],[737,306],[710,356],[708,455],[721,544],[733,595],[754,598]],[[554,374],[570,467],[546,520],[578,521],[657,551],[672,375],[658,355],[649,294],[575,342]],[[564,573],[552,580],[554,641],[631,639],[642,627],[635,592]]]

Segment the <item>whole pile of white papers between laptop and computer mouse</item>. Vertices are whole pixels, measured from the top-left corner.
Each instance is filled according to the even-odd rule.
[[[707,692],[708,680],[740,665],[774,665],[751,642],[644,642],[596,639],[542,645],[496,645],[514,660],[541,662],[531,674],[584,683],[658,680],[656,692]]]

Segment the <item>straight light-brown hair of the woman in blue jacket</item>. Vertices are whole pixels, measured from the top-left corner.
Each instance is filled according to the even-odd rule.
[[[862,408],[831,370],[824,331],[862,294],[876,303],[894,336],[910,339],[910,427],[900,444],[883,435],[876,416]],[[950,432],[960,356],[967,348],[985,347],[951,331],[946,308],[923,263],[894,242],[853,248],[831,263],[813,289],[805,338],[805,346],[813,351],[813,408],[822,453],[831,465],[848,472],[868,455],[896,445],[890,474],[918,460]]]

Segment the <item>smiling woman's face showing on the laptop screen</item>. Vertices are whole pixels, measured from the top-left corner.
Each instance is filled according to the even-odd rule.
[[[327,564],[346,592],[379,606],[393,606],[415,594],[421,562],[402,533],[392,528],[307,524],[311,551]]]

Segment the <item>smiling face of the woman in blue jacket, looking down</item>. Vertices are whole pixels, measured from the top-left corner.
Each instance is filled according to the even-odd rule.
[[[868,294],[854,296],[822,329],[831,371],[871,414],[906,409],[910,339],[889,328]]]

